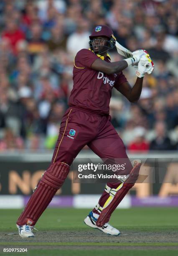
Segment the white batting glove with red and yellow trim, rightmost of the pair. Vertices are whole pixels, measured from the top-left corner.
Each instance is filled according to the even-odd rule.
[[[136,71],[137,77],[144,77],[145,73],[151,74],[154,69],[154,63],[150,58],[149,54],[144,54],[141,56],[138,63],[138,69]]]

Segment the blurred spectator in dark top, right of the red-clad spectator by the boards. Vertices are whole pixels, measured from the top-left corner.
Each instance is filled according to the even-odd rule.
[[[173,149],[170,138],[167,136],[164,122],[159,121],[155,123],[155,135],[155,139],[150,142],[150,150],[166,151]]]

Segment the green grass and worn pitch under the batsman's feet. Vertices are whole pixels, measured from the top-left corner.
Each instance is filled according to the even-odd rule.
[[[83,222],[88,209],[47,209],[36,224],[35,238],[20,238],[15,221],[21,210],[0,210],[0,255],[3,248],[27,248],[23,255],[177,256],[178,208],[115,210],[111,225],[120,236],[108,236]]]

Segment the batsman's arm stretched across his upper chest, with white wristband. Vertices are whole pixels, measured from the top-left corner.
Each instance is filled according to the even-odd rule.
[[[115,62],[107,62],[102,59],[96,59],[92,63],[91,68],[94,70],[104,72],[106,74],[117,74],[122,70],[126,69],[128,66],[134,65],[137,62],[138,59],[136,59],[135,57]]]

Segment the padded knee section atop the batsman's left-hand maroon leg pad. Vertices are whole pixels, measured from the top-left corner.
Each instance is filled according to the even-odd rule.
[[[43,174],[40,184],[51,187],[51,189],[59,189],[64,183],[69,169],[70,167],[64,163],[52,164]]]

